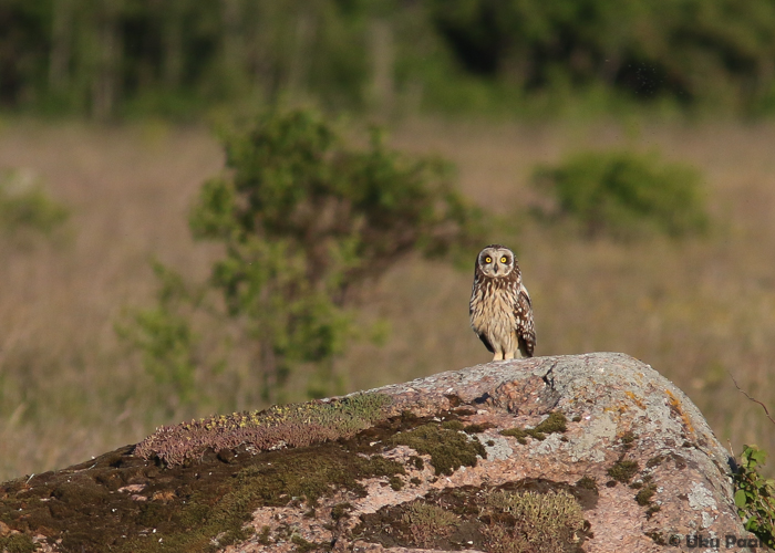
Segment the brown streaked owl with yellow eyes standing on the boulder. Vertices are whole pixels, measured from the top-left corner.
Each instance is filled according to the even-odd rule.
[[[492,244],[479,252],[471,291],[471,327],[493,361],[533,357],[533,305],[514,252]]]

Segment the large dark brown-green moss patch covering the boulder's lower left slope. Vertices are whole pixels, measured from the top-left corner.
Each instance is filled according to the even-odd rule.
[[[127,446],[0,486],[0,520],[22,532],[3,545],[19,549],[31,543],[30,535],[42,534],[51,543],[61,540],[58,547],[65,553],[215,551],[247,539],[251,530],[244,525],[260,507],[306,502],[313,512],[320,498],[338,490],[365,494],[359,481],[366,478],[403,486],[404,467],[378,455],[383,446],[374,445],[373,436],[424,422],[396,417],[314,447],[256,453],[240,446],[229,455],[207,449],[198,461],[174,466],[138,457]],[[348,507],[341,504],[339,514]]]

